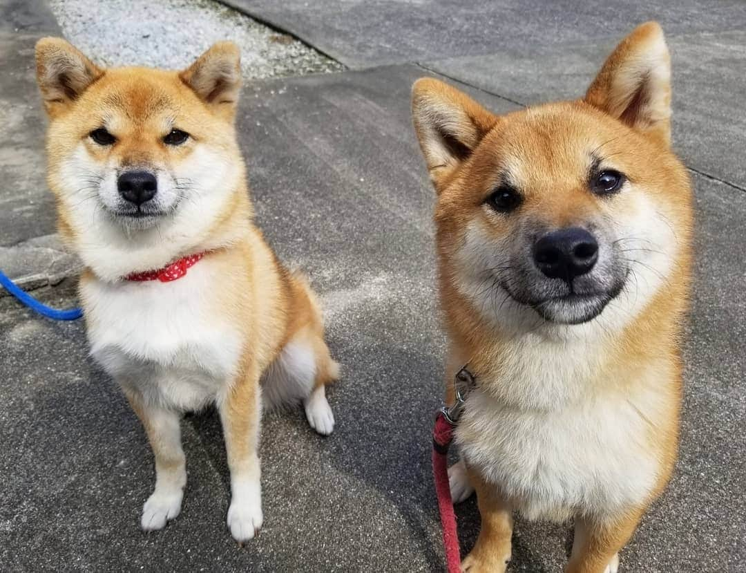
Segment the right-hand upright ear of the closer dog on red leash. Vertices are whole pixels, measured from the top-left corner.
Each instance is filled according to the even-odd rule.
[[[585,101],[671,145],[671,57],[657,22],[639,25],[621,41]]]

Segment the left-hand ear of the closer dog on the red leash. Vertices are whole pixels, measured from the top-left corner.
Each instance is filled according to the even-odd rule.
[[[438,192],[498,121],[465,93],[433,78],[415,82],[412,116],[427,171]]]

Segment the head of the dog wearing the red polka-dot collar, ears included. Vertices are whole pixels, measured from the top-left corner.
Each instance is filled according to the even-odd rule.
[[[183,72],[103,70],[64,40],[46,38],[37,44],[37,77],[63,233],[82,242],[166,238],[225,208],[242,175],[233,132],[236,46],[216,44]]]

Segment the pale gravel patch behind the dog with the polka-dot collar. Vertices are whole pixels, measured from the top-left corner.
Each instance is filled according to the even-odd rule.
[[[219,40],[245,78],[336,72],[342,64],[213,0],[50,0],[65,37],[104,66],[181,69]]]

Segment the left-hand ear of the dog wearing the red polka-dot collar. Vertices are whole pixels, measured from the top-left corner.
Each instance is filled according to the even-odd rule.
[[[49,116],[61,113],[104,71],[62,38],[37,42],[37,83]]]

